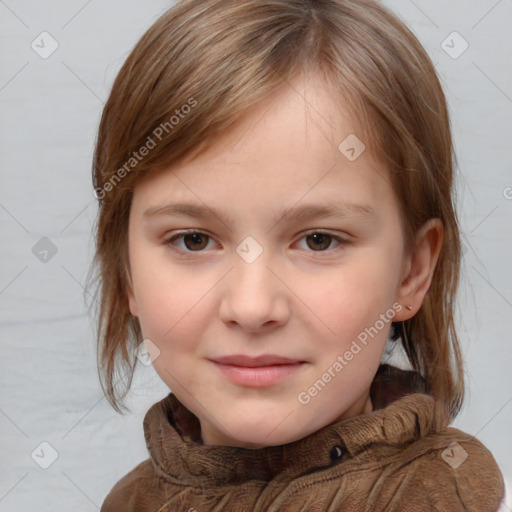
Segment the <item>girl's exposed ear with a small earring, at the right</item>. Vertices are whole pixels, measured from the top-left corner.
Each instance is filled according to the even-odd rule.
[[[429,219],[416,234],[414,247],[404,262],[397,290],[397,301],[404,307],[395,315],[396,321],[408,320],[420,309],[432,282],[443,236],[443,223],[440,219]],[[406,308],[406,305],[411,309]]]

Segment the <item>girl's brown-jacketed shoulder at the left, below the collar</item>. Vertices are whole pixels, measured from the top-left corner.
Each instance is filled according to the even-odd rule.
[[[157,497],[157,478],[151,459],[135,466],[123,476],[106,496],[100,512],[144,512],[152,510],[152,497]]]

